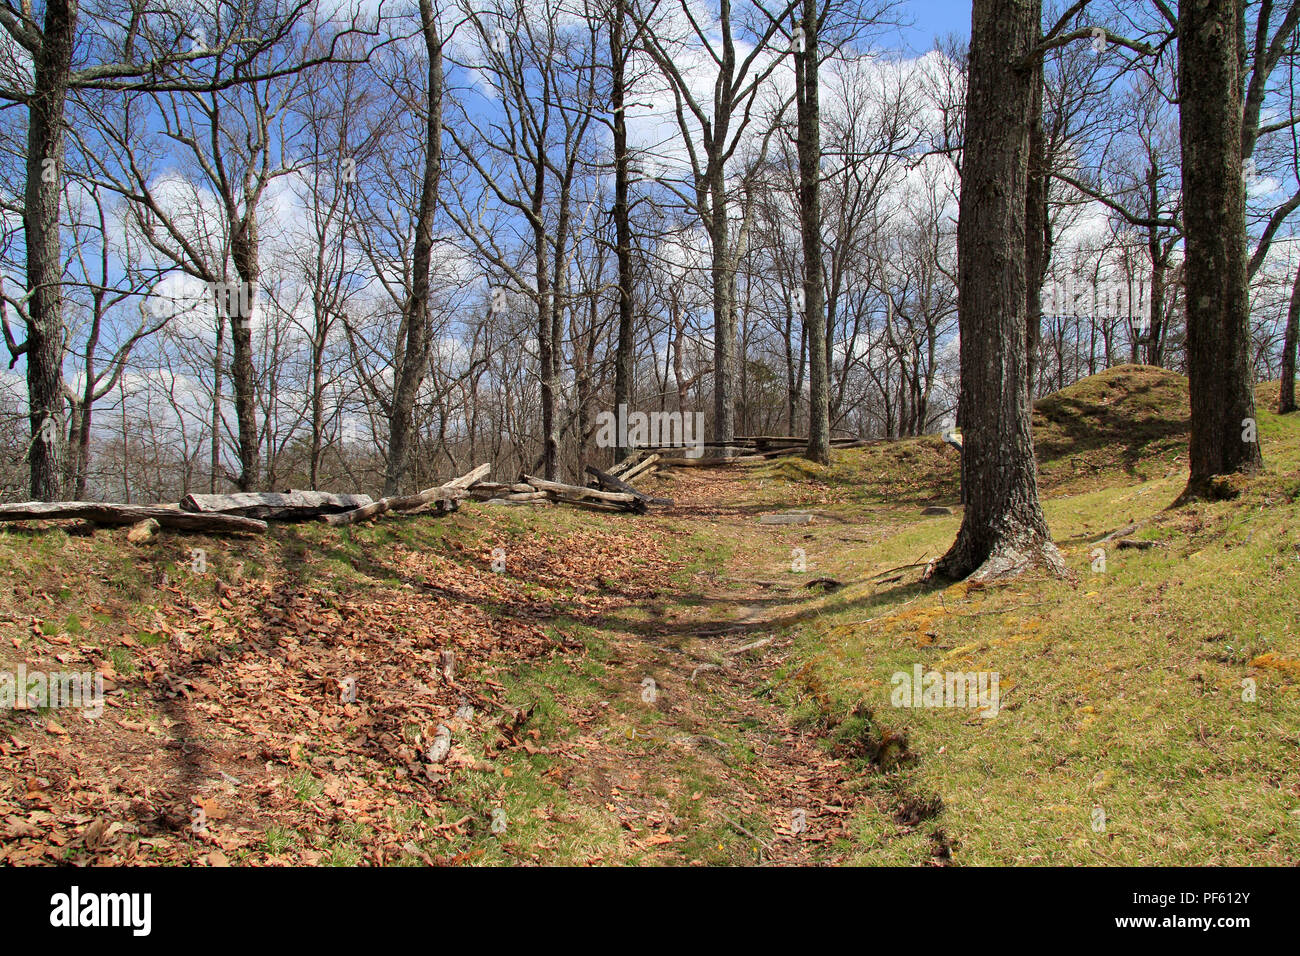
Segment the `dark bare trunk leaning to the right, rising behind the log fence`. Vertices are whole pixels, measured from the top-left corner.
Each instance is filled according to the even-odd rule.
[[[429,365],[429,269],[433,263],[433,219],[438,206],[438,176],[442,170],[442,40],[430,0],[420,0],[420,29],[429,57],[429,99],[425,114],[424,182],[416,213],[415,247],[411,252],[411,293],[402,308],[399,332],[402,362],[393,386],[389,416],[389,458],[384,472],[384,494],[394,496],[402,486],[411,458],[415,431],[415,402]]]

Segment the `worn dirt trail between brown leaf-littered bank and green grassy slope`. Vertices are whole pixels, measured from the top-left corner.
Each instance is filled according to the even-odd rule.
[[[647,823],[671,835],[675,821],[664,819],[663,801],[650,796],[654,787],[647,784],[672,780],[682,763],[694,765],[710,779],[699,797],[707,801],[702,819],[745,838],[750,862],[841,862],[852,849],[848,823],[868,799],[861,770],[793,726],[774,701],[777,684],[793,678],[780,676],[793,639],[777,635],[810,594],[797,581],[762,580],[762,568],[802,533],[759,527],[754,507],[727,503],[740,498],[732,481],[725,472],[686,475],[672,493],[692,503],[642,519],[680,533],[684,515],[698,516],[736,553],[729,567],[696,575],[698,589],[682,596],[682,605],[642,605],[644,626],[606,633],[616,644],[614,683],[658,710],[658,730],[620,739],[593,727],[603,747],[584,777],[597,796],[616,797],[606,808],[627,829]],[[634,845],[649,849],[650,861],[686,862],[666,835]]]

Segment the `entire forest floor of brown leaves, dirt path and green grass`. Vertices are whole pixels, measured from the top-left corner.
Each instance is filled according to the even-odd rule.
[[[0,713],[0,862],[1294,865],[1300,418],[1260,397],[1268,473],[1180,509],[1183,380],[1040,402],[1072,580],[922,581],[937,438],[675,471],[642,518],[10,525],[0,674],[108,695]],[[996,714],[892,706],[915,665],[996,671]]]

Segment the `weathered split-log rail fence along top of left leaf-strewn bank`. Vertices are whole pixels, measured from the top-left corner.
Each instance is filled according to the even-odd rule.
[[[450,514],[465,498],[494,503],[560,503],[598,511],[645,514],[651,505],[672,505],[632,486],[638,476],[653,473],[658,455],[620,462],[610,472],[588,468],[592,486],[524,475],[519,481],[486,481],[490,464],[480,464],[458,479],[415,494],[373,499],[368,494],[330,492],[242,492],[238,494],[187,494],[178,503],[121,505],[95,501],[27,501],[0,505],[0,523],[81,519],[94,525],[136,525],[144,531],[170,528],[200,533],[264,533],[269,522],[321,520],[346,527],[384,515]]]

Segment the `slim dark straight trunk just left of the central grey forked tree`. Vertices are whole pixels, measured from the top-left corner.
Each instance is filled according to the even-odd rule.
[[[628,212],[628,120],[624,107],[627,83],[627,51],[623,47],[623,27],[627,21],[627,0],[615,0],[610,23],[610,64],[612,70],[611,104],[614,107],[614,230],[619,258],[619,342],[614,356],[614,408],[630,406],[636,382],[632,350],[632,222]],[[616,460],[628,457],[630,449],[619,446]]]

